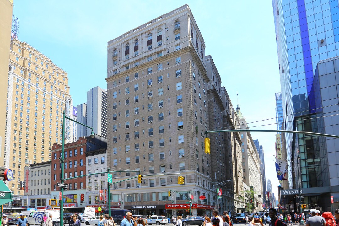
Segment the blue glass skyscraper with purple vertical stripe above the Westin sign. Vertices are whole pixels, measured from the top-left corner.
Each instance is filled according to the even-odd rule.
[[[338,119],[329,117],[336,109],[324,110],[326,106],[338,104],[334,97],[337,88],[329,88],[330,84],[335,86],[338,81],[331,76],[321,76],[335,75],[336,71],[335,59],[339,55],[338,0],[272,2],[282,108],[283,115],[286,115],[283,129],[336,134],[338,130],[333,127]],[[322,118],[324,116],[328,119]],[[305,195],[302,204],[324,211],[338,208],[339,179],[337,174],[332,173],[332,170],[338,171],[338,164],[331,163],[330,156],[333,155],[328,154],[339,147],[336,146],[338,139],[292,133],[285,133],[284,137],[287,159],[292,160],[288,161],[288,170],[297,171],[295,163],[300,151],[301,184]],[[289,173],[288,180],[290,189],[299,187],[297,174],[292,178],[292,173]],[[330,196],[334,198],[332,205]],[[285,197],[285,200],[293,201],[293,197]],[[295,206],[291,209],[296,209],[298,202],[294,200]]]

